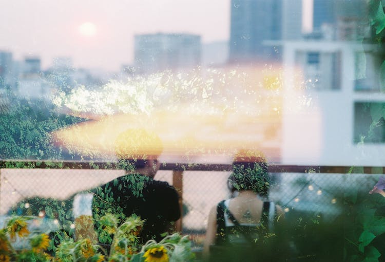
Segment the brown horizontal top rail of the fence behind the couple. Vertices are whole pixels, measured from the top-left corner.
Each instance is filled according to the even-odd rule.
[[[6,161],[0,160],[0,169],[120,169],[116,162],[76,161]],[[170,171],[232,171],[231,164],[161,163],[160,170]],[[325,166],[282,165],[268,166],[270,173],[326,173],[326,174],[385,174],[384,166]]]

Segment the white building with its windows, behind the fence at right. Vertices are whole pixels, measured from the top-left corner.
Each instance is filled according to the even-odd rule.
[[[385,165],[375,47],[298,41],[283,49],[282,163]]]

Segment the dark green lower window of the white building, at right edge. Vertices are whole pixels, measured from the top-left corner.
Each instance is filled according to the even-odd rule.
[[[354,103],[354,143],[385,143],[385,102]]]

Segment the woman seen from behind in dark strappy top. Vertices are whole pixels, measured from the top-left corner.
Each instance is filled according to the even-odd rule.
[[[249,260],[247,256],[271,242],[268,238],[274,235],[274,222],[282,219],[283,212],[274,202],[263,201],[269,181],[263,157],[251,151],[241,151],[236,155],[229,183],[239,194],[211,209],[203,250],[206,258]]]

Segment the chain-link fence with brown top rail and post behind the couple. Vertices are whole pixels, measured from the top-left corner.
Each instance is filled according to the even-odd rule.
[[[10,173],[12,169],[13,170],[17,169],[17,172],[16,170],[14,170],[13,173],[12,172]],[[34,173],[32,172],[32,169],[34,170]],[[47,170],[50,171],[49,172],[50,174],[47,174],[46,176],[42,176],[40,178],[41,180],[44,180],[49,176],[56,175],[56,180],[60,178],[60,181],[58,181],[58,186],[71,188],[73,190],[75,190],[75,186],[71,184],[70,181],[67,181],[68,183],[64,183],[63,181],[73,179],[72,176],[69,176],[69,174],[73,174],[74,172],[76,173],[74,174],[75,176],[78,176],[78,177],[82,176],[79,173],[80,170],[82,170],[83,172],[98,171],[98,175],[97,175],[99,179],[98,181],[96,181],[97,179],[94,179],[94,177],[89,178],[89,180],[90,181],[92,180],[94,184],[95,183],[101,184],[103,182],[112,180],[114,177],[118,177],[124,174],[124,171],[119,170],[119,167],[117,166],[116,163],[2,160],[0,161],[0,213],[1,213],[1,205],[5,205],[6,202],[8,201],[7,199],[9,199],[9,198],[5,199],[6,197],[10,197],[12,194],[16,195],[14,199],[21,199],[25,197],[24,192],[26,192],[27,190],[33,189],[34,184],[32,184],[31,181],[35,179],[34,174],[47,173]],[[385,167],[382,167],[382,166],[315,166],[315,165],[305,166],[305,165],[273,164],[273,165],[269,165],[268,170],[269,170],[269,173],[272,175],[272,177],[276,179],[275,182],[273,181],[273,183],[275,183],[276,185],[276,190],[272,194],[275,196],[276,199],[278,199],[278,202],[281,205],[283,205],[284,208],[286,207],[286,205],[289,206],[290,203],[292,203],[291,207],[303,208],[306,203],[305,203],[305,200],[303,200],[303,202],[299,202],[298,200],[300,199],[299,196],[301,196],[302,199],[307,199],[306,201],[309,201],[309,199],[311,199],[312,197],[313,198],[316,197],[317,194],[320,195],[322,192],[324,192],[324,195],[329,194],[330,195],[329,200],[332,201],[332,203],[335,203],[337,200],[333,191],[335,191],[336,186],[337,188],[339,186],[339,189],[341,189],[343,186],[345,186],[343,185],[343,183],[346,183],[346,181],[344,182],[342,181],[342,176],[335,176],[336,174],[339,174],[339,175],[360,174],[361,178],[365,177],[365,175],[371,175],[371,178],[373,179],[370,180],[370,183],[372,185],[368,185],[368,187],[373,186],[375,183],[374,181],[376,180],[376,177],[373,177],[373,176],[377,176],[379,174],[385,174]],[[57,174],[51,174],[54,171],[63,171],[63,172],[69,171],[71,173],[56,172]],[[106,172],[104,171],[111,171],[113,174],[111,172],[106,174]],[[182,214],[186,212],[190,212],[189,214],[190,217],[187,217],[187,220],[189,222],[188,221],[187,222],[191,224],[191,219],[192,219],[191,216],[192,216],[192,213],[194,212],[196,213],[195,217],[199,217],[199,218],[196,218],[200,220],[199,223],[197,222],[195,226],[192,227],[192,228],[195,227],[195,229],[191,229],[191,227],[189,226],[187,227],[187,232],[201,232],[201,233],[203,232],[204,229],[202,228],[204,227],[203,225],[205,222],[204,221],[205,217],[207,216],[208,206],[215,204],[218,199],[225,198],[228,196],[228,192],[226,191],[227,189],[226,189],[225,181],[228,177],[228,174],[231,171],[232,171],[231,164],[199,164],[199,163],[195,163],[195,164],[162,163],[161,164],[160,172],[166,172],[166,173],[163,173],[165,175],[162,176],[161,179],[165,179],[170,184],[174,185],[174,187],[177,189],[180,195],[180,209]],[[215,180],[216,178],[214,178],[213,176],[214,180],[210,180],[211,182],[205,182],[200,179],[194,180],[194,178],[190,176],[191,174],[202,175],[202,174],[206,174],[206,172],[207,173],[209,172],[209,174],[214,174],[214,173],[220,174],[220,176],[218,176],[220,177],[220,179]],[[15,177],[15,179],[12,180],[13,182],[11,182],[11,178],[15,174],[17,174],[20,177],[19,178]],[[280,181],[277,181],[277,177],[279,176],[283,176],[284,179],[280,179]],[[191,189],[191,185],[188,184],[189,182],[186,182],[186,180],[188,181],[194,180],[195,188]],[[326,180],[328,180],[328,182],[323,183],[323,181],[326,181]],[[17,181],[17,183],[20,183],[20,184],[27,183],[27,188],[29,186],[29,189],[24,189],[24,191],[19,190],[17,186],[12,184],[12,183],[15,183],[15,181]],[[215,181],[215,183],[217,184],[220,184],[220,185],[216,185],[217,190],[214,189],[213,181]],[[297,184],[293,184],[292,181],[296,182]],[[298,184],[299,183],[298,181],[300,181],[300,184]],[[348,182],[347,186],[354,186],[357,183],[362,184],[362,182],[356,182],[355,180],[349,180],[349,181],[350,182]],[[39,185],[41,187],[50,186],[50,185],[45,185],[43,182],[41,184],[42,185]],[[7,188],[5,188],[6,185],[7,185]],[[328,189],[328,187],[330,186],[332,187],[334,186],[334,189]],[[217,192],[218,188],[221,190],[220,192]],[[7,189],[8,191],[4,189]],[[202,189],[202,190],[198,192],[197,189]],[[330,193],[328,193],[328,191]],[[312,192],[315,192],[314,196],[306,195]],[[38,192],[34,194],[38,194]],[[206,194],[205,196],[206,199],[204,201],[206,200],[207,201],[203,202],[203,200],[200,200],[199,202],[196,197],[199,194],[200,195]],[[212,196],[209,196],[208,194],[213,194],[213,195],[216,194],[216,196],[213,198],[210,198]],[[317,201],[320,201],[320,200],[317,200]],[[302,203],[303,205],[301,206],[300,204]],[[318,204],[318,207],[321,207],[321,204],[319,203],[317,204]],[[309,203],[307,203],[307,205],[309,205]],[[4,209],[3,209],[3,212],[4,212]],[[182,219],[184,219],[184,217]],[[186,232],[186,227],[182,219],[181,219],[181,223],[178,226],[178,231]]]

